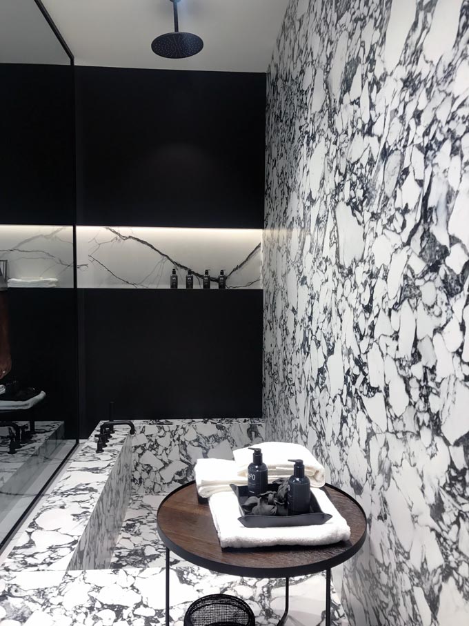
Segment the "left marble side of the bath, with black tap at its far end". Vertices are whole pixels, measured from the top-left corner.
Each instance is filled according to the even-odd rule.
[[[128,429],[116,429],[97,453],[94,433],[39,505],[4,569],[61,571],[110,562],[130,497],[131,445]]]

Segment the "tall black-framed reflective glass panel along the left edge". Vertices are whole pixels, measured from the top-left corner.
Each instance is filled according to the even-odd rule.
[[[1,0],[0,547],[77,442],[73,81],[39,0]]]

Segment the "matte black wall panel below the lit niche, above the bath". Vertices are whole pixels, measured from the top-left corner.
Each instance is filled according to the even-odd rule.
[[[260,418],[261,290],[88,289],[87,436],[108,402],[126,418]]]

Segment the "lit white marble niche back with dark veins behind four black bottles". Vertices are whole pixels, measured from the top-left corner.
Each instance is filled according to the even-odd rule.
[[[201,288],[206,269],[212,288],[223,269],[227,288],[262,288],[262,231],[249,228],[77,228],[78,286],[169,288],[176,268],[179,288],[188,269]]]

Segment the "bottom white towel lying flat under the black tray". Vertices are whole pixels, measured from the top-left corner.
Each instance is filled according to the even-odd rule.
[[[328,545],[350,539],[350,527],[321,489],[312,488],[323,513],[332,518],[319,526],[246,528],[238,518],[238,499],[234,493],[215,493],[208,503],[222,548],[253,548],[273,545]]]

